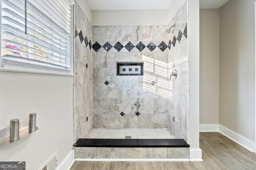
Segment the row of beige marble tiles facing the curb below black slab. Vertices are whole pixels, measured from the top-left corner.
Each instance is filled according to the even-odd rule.
[[[74,147],[75,158],[88,159],[189,159],[189,148]]]

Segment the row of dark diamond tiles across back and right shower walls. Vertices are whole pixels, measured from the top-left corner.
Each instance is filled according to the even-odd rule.
[[[77,32],[75,33],[75,35],[76,34]],[[82,43],[83,41],[82,33],[78,33],[78,35],[79,37],[81,37],[80,41]],[[181,30],[177,31],[177,34],[174,35],[172,39],[169,39],[168,45],[164,43],[164,41],[162,41],[159,45],[156,45],[156,43],[154,43],[153,41],[151,41],[148,45],[145,45],[141,41],[137,45],[132,44],[132,42],[130,41],[126,44],[122,44],[120,43],[120,41],[118,41],[116,44],[112,44],[112,45],[107,41],[106,43],[104,43],[104,45],[100,45],[100,43],[96,41],[92,45],[92,49],[98,52],[101,48],[103,48],[106,52],[108,52],[110,51],[110,49],[114,48],[116,49],[117,52],[120,52],[123,48],[125,48],[127,51],[130,52],[132,51],[132,49],[136,48],[140,52],[142,52],[145,48],[148,48],[151,52],[153,52],[158,47],[162,52],[164,52],[167,48],[170,50],[171,47],[175,47],[177,41],[178,43],[181,43],[182,39],[187,39],[187,24],[185,27],[183,27],[182,31]]]

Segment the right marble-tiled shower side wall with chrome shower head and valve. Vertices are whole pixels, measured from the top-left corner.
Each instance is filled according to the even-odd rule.
[[[187,141],[188,133],[188,13],[187,1],[180,8],[178,13],[170,21],[168,27],[176,24],[168,35],[168,41],[172,43],[168,51],[168,73],[177,70],[176,80],[169,81],[169,129],[176,138],[183,138]],[[181,39],[180,39],[181,36]],[[177,39],[180,39],[178,41]],[[175,46],[173,45],[175,44]]]

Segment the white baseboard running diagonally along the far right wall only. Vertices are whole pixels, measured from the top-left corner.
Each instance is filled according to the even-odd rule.
[[[219,132],[231,139],[232,141],[238,143],[245,149],[250,150],[251,152],[254,152],[254,142],[250,141],[249,139],[235,133],[234,131],[231,131],[230,129],[223,127],[222,125],[219,125]]]

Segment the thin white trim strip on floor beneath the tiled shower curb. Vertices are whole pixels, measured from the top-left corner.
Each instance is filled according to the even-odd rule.
[[[84,158],[76,158],[76,161],[101,161],[101,162],[153,162],[153,161],[158,161],[158,162],[188,162],[190,159],[84,159]]]

